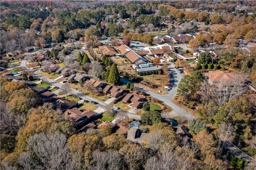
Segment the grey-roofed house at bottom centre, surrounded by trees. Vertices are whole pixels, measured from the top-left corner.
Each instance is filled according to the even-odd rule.
[[[127,132],[127,139],[133,142],[143,143],[148,138],[148,133],[141,132],[138,128],[130,128]]]

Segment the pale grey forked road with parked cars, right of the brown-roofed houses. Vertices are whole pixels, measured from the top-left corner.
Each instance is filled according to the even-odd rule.
[[[155,92],[149,91],[149,90],[146,90],[145,92],[148,95],[150,95],[160,101],[163,101],[163,103],[165,105],[172,108],[171,114],[167,114],[166,118],[173,118],[173,117],[177,117],[177,116],[183,116],[183,117],[187,117],[187,118],[196,118],[193,114],[189,113],[185,109],[183,109],[180,106],[178,106],[177,104],[173,103],[172,99],[177,94],[178,84],[179,84],[180,80],[182,79],[182,74],[180,74],[180,72],[177,69],[172,69],[172,70],[174,71],[174,78],[177,81],[174,83],[174,86],[169,91],[169,94],[159,95],[159,94],[156,94]],[[143,87],[139,86],[139,84],[136,84],[135,86],[139,87],[140,91],[143,91]],[[142,90],[141,90],[141,88],[142,88]]]

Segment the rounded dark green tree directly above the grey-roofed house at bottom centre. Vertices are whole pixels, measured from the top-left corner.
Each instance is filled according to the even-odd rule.
[[[157,111],[149,111],[141,115],[141,122],[147,125],[153,125],[162,122],[162,117]]]

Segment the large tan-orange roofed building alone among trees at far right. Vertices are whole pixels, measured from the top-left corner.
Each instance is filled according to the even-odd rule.
[[[235,86],[238,83],[244,82],[243,75],[228,71],[211,71],[205,75],[211,85],[221,84],[222,86]]]

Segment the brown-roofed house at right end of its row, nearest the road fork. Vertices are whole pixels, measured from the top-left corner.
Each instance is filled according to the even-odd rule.
[[[133,108],[142,108],[143,103],[145,103],[147,100],[137,94],[127,94],[124,98],[123,98],[123,102],[124,103],[132,103],[132,107]]]

